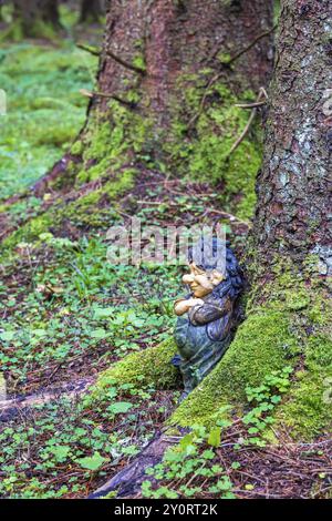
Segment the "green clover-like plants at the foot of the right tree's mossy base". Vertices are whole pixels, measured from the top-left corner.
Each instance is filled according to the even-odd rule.
[[[142,496],[145,498],[177,499],[199,498],[209,493],[209,497],[219,499],[236,499],[236,487],[232,478],[242,468],[241,449],[243,447],[264,448],[266,431],[276,422],[273,412],[278,403],[290,388],[290,374],[292,369],[284,367],[267,375],[259,387],[247,387],[247,412],[237,418],[241,425],[241,436],[232,433],[232,420],[219,419],[209,428],[194,423],[190,432],[179,437],[177,445],[169,447],[163,460],[153,468],[146,469],[146,480],[142,483]],[[227,409],[227,408],[225,408]],[[238,428],[239,429],[239,428]],[[178,432],[179,433],[179,432]],[[227,447],[224,451],[225,439]],[[245,466],[249,470],[248,462]],[[153,481],[148,479],[153,477]],[[256,486],[256,478],[247,473],[247,479],[253,482],[241,483],[240,494],[251,491]]]

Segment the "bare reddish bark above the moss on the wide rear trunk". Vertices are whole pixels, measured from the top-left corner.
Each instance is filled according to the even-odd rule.
[[[154,118],[156,127],[170,126],[175,118],[173,101],[183,99],[178,79],[198,74],[204,68],[211,69],[210,78],[221,75],[220,55],[235,55],[246,49],[256,37],[271,29],[271,4],[263,0],[111,2],[98,89],[125,93],[138,81],[141,113]],[[241,89],[257,91],[267,83],[271,42],[271,35],[258,41],[235,63],[231,80],[236,88],[241,83]],[[141,75],[114,59],[133,63],[139,55],[145,69]],[[239,72],[241,78],[237,78]],[[97,104],[103,111],[107,102],[100,100]]]

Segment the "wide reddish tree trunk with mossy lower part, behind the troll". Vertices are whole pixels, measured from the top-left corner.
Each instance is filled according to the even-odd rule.
[[[267,85],[272,42],[263,0],[112,1],[96,92],[73,149],[89,156],[76,165],[79,182],[145,164],[224,183],[225,198],[237,197],[239,215],[251,215],[261,144],[253,127],[229,156],[249,118],[234,105]],[[101,154],[91,156],[96,140]]]

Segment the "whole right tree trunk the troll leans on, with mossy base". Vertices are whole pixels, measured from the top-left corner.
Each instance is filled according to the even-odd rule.
[[[222,405],[246,407],[246,388],[289,366],[273,429],[312,439],[332,427],[330,1],[281,7],[247,319],[173,421],[208,423]]]

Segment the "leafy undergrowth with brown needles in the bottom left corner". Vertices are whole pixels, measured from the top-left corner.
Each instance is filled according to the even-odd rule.
[[[0,427],[1,497],[86,498],[156,436],[174,399],[124,384],[94,403],[62,396],[22,410]]]

